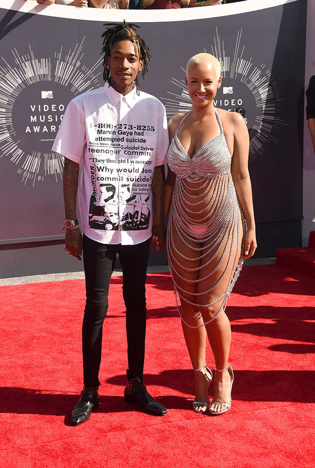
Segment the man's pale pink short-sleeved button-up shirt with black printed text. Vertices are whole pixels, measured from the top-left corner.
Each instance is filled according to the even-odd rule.
[[[135,86],[123,96],[105,83],[69,102],[52,150],[80,164],[80,220],[89,238],[130,245],[151,236],[151,181],[167,148],[163,104]]]

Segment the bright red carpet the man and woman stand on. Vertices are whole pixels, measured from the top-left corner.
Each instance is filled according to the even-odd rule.
[[[147,279],[145,383],[168,409],[138,412],[122,398],[126,342],[120,277],[104,323],[101,404],[68,425],[81,389],[84,281],[2,286],[0,440],[9,468],[313,468],[312,276],[247,266],[231,294],[232,407],[191,410],[193,373],[167,274]],[[208,365],[213,368],[211,353]],[[211,392],[211,386],[210,386]]]

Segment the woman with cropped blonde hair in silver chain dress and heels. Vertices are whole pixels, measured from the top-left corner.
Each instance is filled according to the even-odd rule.
[[[199,53],[188,60],[185,82],[192,109],[169,120],[165,189],[167,255],[194,369],[193,409],[209,409],[212,415],[231,405],[231,329],[224,309],[243,260],[256,248],[248,131],[239,113],[214,107],[221,80],[214,56]],[[211,404],[206,335],[216,367]]]

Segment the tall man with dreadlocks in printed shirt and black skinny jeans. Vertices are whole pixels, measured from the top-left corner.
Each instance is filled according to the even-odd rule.
[[[86,304],[82,326],[83,390],[71,413],[86,421],[99,402],[98,371],[109,281],[119,255],[126,307],[128,384],[124,399],[163,415],[166,409],[143,384],[145,279],[150,242],[162,250],[164,162],[168,147],[165,109],[138,90],[150,59],[133,23],[108,23],[102,34],[103,87],[68,104],[53,144],[64,156],[65,250],[81,259]],[[76,219],[76,194],[83,239]],[[152,221],[152,198],[155,217]]]

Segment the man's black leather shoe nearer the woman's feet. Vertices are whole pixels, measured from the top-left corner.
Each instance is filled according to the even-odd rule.
[[[167,412],[161,403],[148,394],[142,380],[137,378],[129,380],[128,385],[126,385],[124,400],[128,403],[137,403],[145,411],[159,416],[163,416]]]

